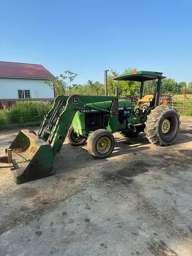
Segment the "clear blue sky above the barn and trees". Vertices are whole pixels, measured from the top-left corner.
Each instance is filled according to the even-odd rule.
[[[77,83],[128,67],[192,81],[190,0],[1,0],[0,11],[0,60],[71,70]]]

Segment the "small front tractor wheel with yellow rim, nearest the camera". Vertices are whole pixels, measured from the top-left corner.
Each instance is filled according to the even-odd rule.
[[[107,158],[114,149],[114,136],[105,129],[98,129],[89,136],[87,147],[94,158]]]

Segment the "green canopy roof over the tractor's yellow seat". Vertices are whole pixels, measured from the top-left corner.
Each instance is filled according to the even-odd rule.
[[[162,72],[153,71],[127,71],[119,76],[114,76],[114,80],[118,81],[148,81],[153,79],[164,79]]]

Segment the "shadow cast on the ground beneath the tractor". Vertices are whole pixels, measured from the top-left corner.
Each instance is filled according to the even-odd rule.
[[[108,156],[108,158],[104,159],[95,159],[89,155],[86,144],[84,146],[71,146],[69,144],[64,144],[60,154],[55,156],[56,169],[59,170],[59,172],[65,172],[76,168],[84,168],[85,164],[87,166],[103,165],[105,162],[108,162],[108,159],[116,156],[128,156],[130,154],[130,156],[136,156],[139,152],[147,151],[153,148],[162,149],[162,147],[156,147],[155,145],[149,143],[145,133],[140,133],[140,135],[135,138],[125,138],[116,134],[114,136],[116,139],[114,151],[110,156]],[[171,145],[181,145],[187,142],[192,142],[192,130],[181,129],[180,133],[178,133],[177,139],[175,139]],[[65,162],[65,168],[63,168],[62,159]]]

